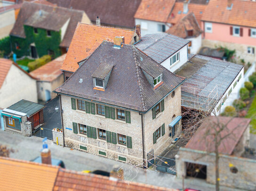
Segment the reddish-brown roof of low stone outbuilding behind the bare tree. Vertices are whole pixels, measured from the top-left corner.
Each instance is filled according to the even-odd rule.
[[[215,129],[218,130],[220,125],[224,125],[226,128],[221,131],[220,138],[227,137],[223,139],[218,149],[220,153],[231,155],[250,121],[246,118],[210,116],[198,128],[185,148],[213,152],[215,150],[213,136]]]

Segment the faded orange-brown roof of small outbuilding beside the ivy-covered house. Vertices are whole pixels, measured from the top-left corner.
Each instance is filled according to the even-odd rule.
[[[63,54],[62,56],[59,56],[58,58],[30,72],[29,74],[41,81],[51,82],[58,76],[62,75],[60,67],[63,64],[65,57],[66,54]]]

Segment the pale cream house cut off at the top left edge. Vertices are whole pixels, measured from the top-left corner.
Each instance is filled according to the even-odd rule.
[[[9,36],[22,4],[0,7],[0,39]]]

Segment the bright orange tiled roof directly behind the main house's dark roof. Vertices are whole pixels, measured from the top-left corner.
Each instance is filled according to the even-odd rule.
[[[113,41],[123,36],[124,43],[130,44],[133,34],[130,30],[78,23],[61,69],[75,72],[77,62],[91,55],[103,40]]]

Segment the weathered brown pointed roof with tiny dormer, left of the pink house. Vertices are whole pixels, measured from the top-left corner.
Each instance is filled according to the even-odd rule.
[[[188,35],[188,31],[192,30],[192,36]],[[203,31],[198,25],[197,19],[193,13],[184,16],[179,23],[171,27],[166,33],[172,34],[181,38],[193,38],[198,37]]]

